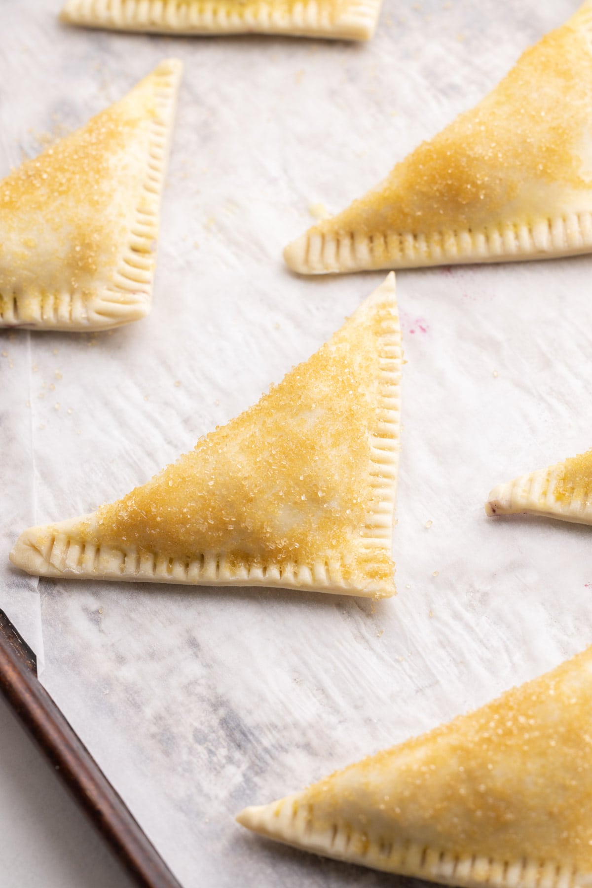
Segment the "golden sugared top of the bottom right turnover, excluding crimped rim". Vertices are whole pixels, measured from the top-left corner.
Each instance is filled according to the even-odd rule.
[[[320,781],[306,801],[315,818],[430,836],[446,851],[592,867],[591,714],[588,650],[481,710]]]

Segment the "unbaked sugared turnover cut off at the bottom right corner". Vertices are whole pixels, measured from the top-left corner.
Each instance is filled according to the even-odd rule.
[[[592,648],[304,792],[245,809],[264,836],[452,885],[592,883]]]

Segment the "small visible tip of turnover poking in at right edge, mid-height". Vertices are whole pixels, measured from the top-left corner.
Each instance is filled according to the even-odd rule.
[[[592,524],[592,450],[493,488],[488,515],[534,515]]]

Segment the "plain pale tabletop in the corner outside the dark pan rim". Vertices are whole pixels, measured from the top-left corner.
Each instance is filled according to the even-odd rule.
[[[3,888],[131,888],[0,697]]]

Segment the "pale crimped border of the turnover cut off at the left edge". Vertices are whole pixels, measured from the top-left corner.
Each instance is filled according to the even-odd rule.
[[[34,273],[13,274],[15,282],[12,287],[5,283],[4,286],[0,286],[0,328],[109,329],[137,321],[150,311],[162,186],[170,150],[181,70],[182,64],[178,60],[164,61],[136,88],[138,91],[143,85],[149,84],[154,109],[147,113],[149,123],[146,148],[136,161],[141,164],[138,200],[125,226],[122,241],[124,246],[117,265],[105,272],[100,268],[99,260],[97,281],[91,281],[85,288],[67,286],[67,259],[59,256],[56,256],[55,263],[59,266],[61,262],[63,266],[61,278],[66,284],[60,289],[37,282]],[[134,91],[130,93],[130,97],[133,94]],[[123,101],[125,99],[122,99]],[[107,112],[101,114],[108,114],[109,111],[110,109],[107,109]],[[93,120],[99,121],[101,114]],[[134,114],[138,114],[138,111],[134,110]],[[75,138],[76,135],[75,133],[69,138]],[[51,155],[51,151],[52,149],[48,149],[34,162],[29,163],[43,164],[43,157],[46,154]],[[55,212],[59,222],[59,210]],[[108,218],[103,221],[103,225],[109,227]],[[23,237],[23,241],[30,240],[32,250],[35,250],[34,244],[36,240],[43,238],[43,234],[38,235],[36,231],[31,231],[30,235],[30,238]],[[76,246],[75,249],[83,251],[84,246],[82,248]],[[79,255],[83,256],[83,252]],[[8,272],[4,273],[5,278],[10,276],[10,271],[9,268]],[[56,272],[56,276],[59,277],[59,271]]]

